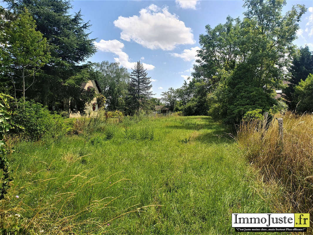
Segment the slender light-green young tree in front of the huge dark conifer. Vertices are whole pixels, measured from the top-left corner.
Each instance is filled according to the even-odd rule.
[[[24,8],[24,12],[12,22],[5,33],[7,44],[4,50],[8,52],[6,59],[12,68],[10,73],[13,83],[17,84],[17,77],[22,79],[24,102],[25,91],[33,85],[35,73],[50,59],[47,39],[35,28],[35,21]],[[25,82],[25,79],[28,81]]]

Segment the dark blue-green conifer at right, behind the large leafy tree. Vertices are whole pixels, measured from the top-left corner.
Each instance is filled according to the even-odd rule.
[[[300,47],[294,55],[289,72],[290,84],[283,90],[284,98],[288,101],[290,109],[295,109],[297,101],[294,100],[295,86],[301,79],[305,79],[310,73],[313,74],[313,54],[308,46]]]

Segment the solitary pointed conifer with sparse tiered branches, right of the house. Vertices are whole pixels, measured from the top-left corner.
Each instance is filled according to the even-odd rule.
[[[131,81],[128,87],[127,103],[130,113],[139,112],[139,109],[148,107],[149,99],[152,95],[152,85],[150,81],[151,77],[147,77],[147,75],[147,70],[138,61],[131,72]]]

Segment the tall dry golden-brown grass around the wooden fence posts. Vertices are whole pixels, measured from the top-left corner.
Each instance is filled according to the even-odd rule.
[[[278,133],[277,118],[283,118],[284,144]],[[258,121],[243,122],[237,141],[265,179],[284,186],[285,206],[295,213],[313,217],[313,116],[287,112],[276,115],[266,130]]]

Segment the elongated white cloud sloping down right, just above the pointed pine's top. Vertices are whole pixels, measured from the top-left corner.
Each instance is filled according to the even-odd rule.
[[[121,43],[120,41],[116,39],[108,41],[101,39],[100,42],[94,42],[94,44],[100,51],[111,52],[117,55],[118,57],[114,58],[115,62],[119,62],[122,66],[126,67],[127,69],[132,69],[135,67],[136,62],[129,62],[128,55],[122,50],[124,44]],[[153,65],[149,65],[146,63],[142,64],[144,68],[147,70],[152,70],[155,68]]]

